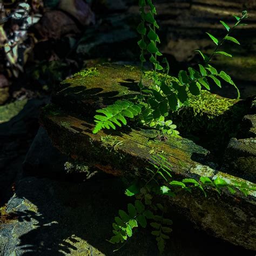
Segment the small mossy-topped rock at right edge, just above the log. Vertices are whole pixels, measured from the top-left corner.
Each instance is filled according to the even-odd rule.
[[[232,138],[221,170],[256,183],[256,138]]]

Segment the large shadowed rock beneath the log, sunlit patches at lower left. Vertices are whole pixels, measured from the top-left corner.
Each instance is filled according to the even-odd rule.
[[[118,210],[125,210],[129,203],[123,190],[118,178],[85,183],[23,178],[15,195],[1,209],[1,256],[114,255],[113,250],[120,245],[114,246],[106,239],[111,237],[111,224]],[[194,230],[176,212],[171,218],[173,232],[166,256],[215,256],[219,248],[227,255],[255,254]],[[148,225],[134,233],[118,255],[159,255],[151,231]]]

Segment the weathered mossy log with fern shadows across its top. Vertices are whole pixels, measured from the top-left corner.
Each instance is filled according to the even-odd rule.
[[[168,137],[161,141],[154,130],[132,127],[93,134],[95,110],[117,98],[138,93],[139,71],[130,66],[110,64],[91,71],[65,80],[55,91],[53,104],[42,111],[41,123],[60,151],[106,173],[142,179],[147,176],[146,167],[152,154],[164,153],[176,178],[223,177],[252,185],[216,170],[208,158],[209,152],[185,138]],[[145,79],[144,83],[150,84],[151,80]],[[244,197],[225,191],[218,197],[210,191],[204,198],[196,192],[168,200],[170,206],[179,207],[207,232],[256,250],[256,193]]]

